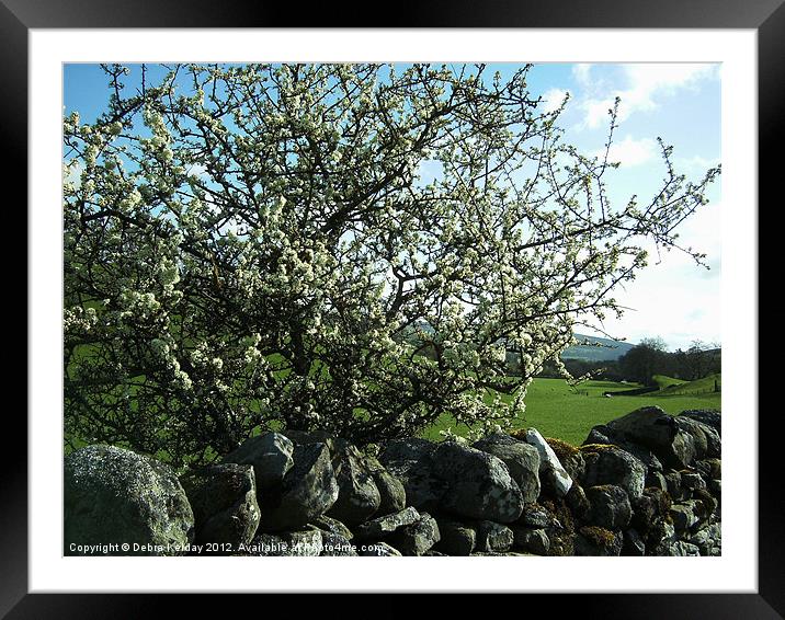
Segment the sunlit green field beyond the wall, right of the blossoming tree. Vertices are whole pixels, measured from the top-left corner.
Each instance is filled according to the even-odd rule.
[[[680,381],[670,379],[663,383],[671,386]],[[690,393],[709,386],[714,387],[713,377],[690,383],[681,382],[675,388],[665,388],[663,391],[637,397],[606,398],[602,395],[605,391],[632,389],[637,386],[612,381],[587,381],[573,391],[562,379],[534,379],[526,394],[526,412],[523,417],[514,421],[513,426],[515,428],[533,426],[545,437],[557,437],[580,445],[592,426],[604,424],[641,406],[658,405],[670,414],[678,414],[687,409],[719,410],[721,409],[720,393],[708,389],[694,395]],[[679,393],[680,391],[685,393]],[[464,435],[468,430],[466,427],[456,428],[454,421],[444,415],[437,424],[423,432],[422,436],[440,439],[440,430],[447,427],[452,427],[458,435]]]

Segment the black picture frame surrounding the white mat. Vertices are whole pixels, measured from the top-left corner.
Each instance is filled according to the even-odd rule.
[[[27,177],[27,36],[31,28],[72,27],[618,27],[618,28],[752,28],[759,51],[759,188],[760,204],[776,196],[774,185],[783,143],[782,111],[785,111],[785,0],[593,0],[527,3],[498,0],[440,0],[428,3],[395,3],[385,23],[375,22],[369,3],[255,3],[215,0],[0,0],[0,143],[11,158],[7,179]],[[351,22],[354,23],[351,23]],[[19,183],[16,204],[26,204],[26,187]],[[782,199],[776,200],[776,206]],[[21,209],[19,209],[21,211]],[[760,209],[759,209],[760,213]],[[25,227],[26,223],[22,226]],[[761,244],[759,243],[759,246]],[[27,323],[30,329],[34,325]],[[755,386],[758,392],[758,387]],[[737,412],[754,421],[758,412]],[[785,492],[780,481],[781,448],[778,420],[759,416],[759,590],[758,594],[638,594],[638,595],[531,595],[551,607],[559,597],[559,615],[583,618],[783,618],[785,617]],[[22,437],[24,436],[24,440]],[[162,596],[171,597],[179,615],[189,617],[204,608],[204,597],[186,595],[83,595],[27,594],[27,437],[7,440],[0,468],[0,616],[7,618],[140,618],[156,615]],[[699,566],[696,566],[699,571]],[[525,575],[522,575],[525,578]],[[645,578],[641,586],[646,586]],[[224,597],[230,607],[254,609],[253,595]],[[270,596],[270,595],[265,595]],[[332,605],[308,597],[309,605]],[[531,598],[531,597],[530,597]],[[311,602],[314,601],[314,602]],[[269,609],[274,609],[268,602]],[[298,604],[299,605],[299,604]],[[396,604],[398,612],[406,612]],[[515,604],[519,605],[519,604]],[[528,604],[527,604],[528,605]],[[353,601],[341,615],[391,615],[378,602]],[[333,609],[334,610],[334,609]],[[332,613],[331,613],[332,615]]]

